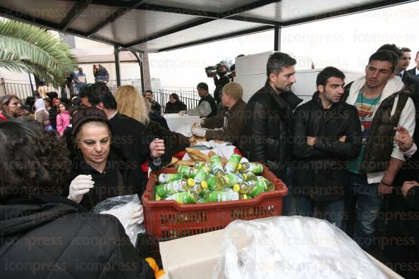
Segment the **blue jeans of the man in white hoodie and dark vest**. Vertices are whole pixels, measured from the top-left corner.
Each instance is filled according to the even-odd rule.
[[[348,209],[351,199],[356,199],[353,240],[363,249],[368,249],[374,241],[377,219],[384,204],[378,194],[378,185],[368,184],[367,175],[349,172],[345,206]]]

